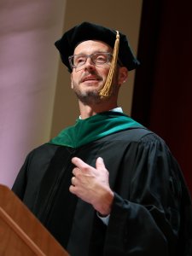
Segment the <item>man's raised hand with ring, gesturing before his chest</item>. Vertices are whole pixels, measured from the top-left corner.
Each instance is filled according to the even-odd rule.
[[[76,167],[73,169],[70,192],[90,203],[102,215],[110,214],[113,191],[109,187],[109,174],[102,158],[97,158],[96,168],[87,165],[78,157],[74,157],[72,162]]]

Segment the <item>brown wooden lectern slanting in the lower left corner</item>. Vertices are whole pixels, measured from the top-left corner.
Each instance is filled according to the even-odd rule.
[[[0,255],[69,256],[6,186],[0,185]]]

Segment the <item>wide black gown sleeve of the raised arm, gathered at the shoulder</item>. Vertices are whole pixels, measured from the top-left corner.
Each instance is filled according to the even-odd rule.
[[[144,137],[128,148],[121,166],[104,255],[191,255],[191,247],[185,249],[191,246],[191,201],[166,144]]]

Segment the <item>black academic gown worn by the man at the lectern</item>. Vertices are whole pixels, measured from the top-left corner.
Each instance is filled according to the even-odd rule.
[[[101,156],[114,192],[108,225],[69,192],[77,156],[96,166]],[[189,256],[191,201],[166,143],[130,128],[79,148],[45,143],[28,154],[15,194],[72,256]]]

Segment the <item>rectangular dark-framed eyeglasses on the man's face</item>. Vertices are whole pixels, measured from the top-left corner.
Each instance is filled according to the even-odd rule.
[[[113,55],[109,52],[96,52],[92,55],[72,55],[68,57],[68,60],[72,68],[83,66],[88,58],[90,58],[93,64],[100,66],[110,62],[112,60],[112,56]]]

